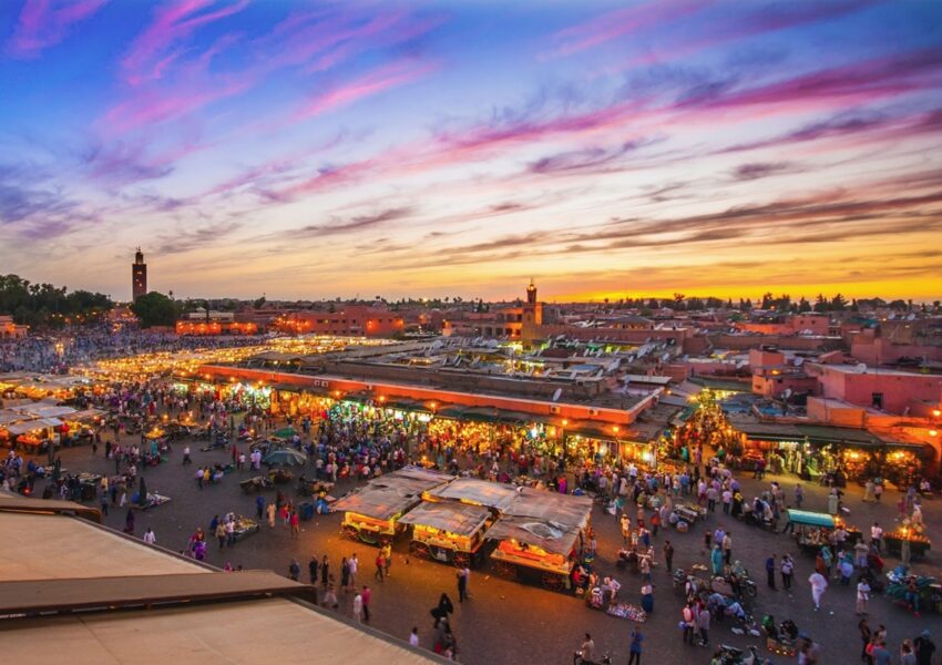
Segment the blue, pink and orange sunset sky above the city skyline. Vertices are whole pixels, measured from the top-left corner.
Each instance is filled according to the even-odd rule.
[[[0,2],[0,274],[942,297],[942,2]]]

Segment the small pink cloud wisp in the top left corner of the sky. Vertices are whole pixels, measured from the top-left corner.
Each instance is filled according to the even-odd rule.
[[[74,23],[88,19],[107,1],[80,0],[65,3],[27,0],[13,34],[7,42],[7,53],[13,58],[38,58],[44,49],[65,39]]]

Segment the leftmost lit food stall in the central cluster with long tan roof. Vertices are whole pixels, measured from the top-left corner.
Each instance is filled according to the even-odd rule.
[[[405,467],[371,480],[334,505],[344,511],[340,529],[348,538],[368,544],[389,543],[405,529],[398,524],[399,518],[421,502],[422,492],[453,478],[432,469]]]

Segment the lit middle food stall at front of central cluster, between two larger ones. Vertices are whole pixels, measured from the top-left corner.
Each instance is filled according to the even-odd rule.
[[[412,524],[409,551],[413,555],[459,567],[479,562],[484,532],[492,522],[483,505],[452,501],[423,502],[399,519],[400,524]]]

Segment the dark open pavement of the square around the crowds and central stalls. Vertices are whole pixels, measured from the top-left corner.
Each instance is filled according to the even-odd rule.
[[[194,464],[181,466],[183,443],[174,444],[171,461],[156,468],[149,468],[144,475],[151,492],[158,492],[172,498],[171,503],[153,510],[137,512],[136,534],[143,534],[152,526],[157,538],[157,544],[174,551],[186,548],[187,540],[196,526],[208,530],[208,523],[214,514],[228,511],[246,515],[255,514],[255,495],[245,494],[238,487],[238,481],[250,477],[248,470],[235,472],[226,477],[219,485],[198,490],[192,475],[199,464],[228,461],[229,456],[224,451],[201,452],[201,442],[191,442]],[[101,453],[101,450],[100,450]],[[70,471],[114,471],[114,463],[102,459],[101,454],[93,457],[90,448],[75,448],[62,452],[63,466]],[[744,495],[751,499],[761,488],[772,480],[779,480],[786,490],[786,497],[793,494],[796,478],[767,475],[761,482],[746,477],[740,479],[744,484]],[[802,483],[806,489],[803,508],[807,510],[826,509],[826,488]],[[41,483],[38,485],[42,490]],[[352,487],[352,483],[339,483],[336,495],[340,495]],[[295,487],[284,485],[287,495],[295,500]],[[898,494],[888,491],[882,504],[863,504],[860,499],[862,489],[847,488],[846,505],[851,510],[848,522],[859,526],[869,534],[870,524],[877,520],[888,531],[891,529],[895,514]],[[274,492],[266,493],[274,500]],[[924,515],[928,532],[935,546],[942,548],[942,501],[932,500],[924,503]],[[631,514],[631,513],[629,513]],[[121,530],[124,525],[125,510],[113,509],[105,523]],[[209,541],[207,562],[224,566],[231,562],[233,566],[243,565],[246,569],[268,569],[287,575],[290,559],[297,557],[307,579],[307,562],[311,555],[320,559],[327,554],[331,571],[339,580],[340,557],[356,552],[360,561],[358,584],[369,584],[373,590],[371,624],[387,633],[407,638],[413,625],[419,627],[423,646],[431,646],[432,618],[429,611],[436,605],[441,592],[448,592],[455,604],[452,621],[459,645],[459,659],[463,663],[559,663],[572,662],[572,653],[578,646],[585,632],[592,633],[601,652],[612,652],[615,663],[627,662],[628,636],[633,623],[614,618],[602,612],[588,610],[584,603],[573,596],[553,593],[543,589],[528,586],[512,581],[494,577],[484,565],[472,571],[471,600],[459,604],[455,571],[451,566],[427,561],[409,560],[405,541],[397,542],[393,554],[392,576],[385,582],[373,580],[373,559],[376,550],[360,543],[340,538],[339,523],[341,515],[315,515],[308,522],[301,522],[301,533],[298,540],[291,540],[290,534],[280,524],[274,530],[264,524],[260,533],[252,535],[237,543],[234,548],[218,550],[215,540]],[[634,520],[634,514],[632,514]],[[603,513],[600,507],[593,512],[593,523],[598,534],[597,569],[600,575],[615,574],[622,582],[621,596],[637,604],[642,582],[639,575],[617,571],[614,565],[615,552],[621,543],[617,519]],[[752,573],[759,586],[757,598],[758,617],[771,612],[778,621],[791,617],[801,630],[808,631],[822,647],[822,663],[843,664],[856,663],[860,648],[854,615],[854,590],[841,587],[836,582],[825,594],[822,610],[811,612],[812,603],[807,582],[813,567],[810,555],[800,552],[787,535],[768,533],[759,528],[749,526],[736,519],[717,512],[709,515],[706,523],[696,524],[688,533],[678,533],[673,529],[662,531],[656,541],[658,554],[665,536],[669,538],[676,548],[675,565],[688,567],[695,562],[706,563],[702,554],[704,529],[715,530],[723,525],[731,532],[734,539],[734,559],[743,561]],[[771,591],[765,585],[764,562],[769,553],[781,556],[791,552],[796,561],[795,585],[791,593]],[[918,569],[922,572],[938,574],[939,554],[930,552],[925,562]],[[888,570],[898,562],[888,557]],[[664,567],[663,560],[658,561],[654,571],[655,611],[648,621],[641,625],[645,635],[645,662],[668,663],[708,663],[711,649],[685,646],[680,641],[677,628],[679,621],[682,596],[673,589],[672,579]],[[340,608],[338,612],[350,615],[351,594],[339,594]],[[888,628],[889,646],[898,653],[899,644],[904,637],[914,637],[923,628],[932,631],[936,644],[942,646],[942,617],[933,612],[923,613],[922,618],[914,618],[904,610],[892,605],[885,598],[874,597],[870,604],[870,622],[872,626],[882,623]],[[734,635],[730,623],[714,623],[710,631],[713,644],[727,643],[736,646],[757,644],[764,647],[762,640]],[[238,636],[236,636],[238,638]],[[264,635],[253,635],[253,640],[264,640]],[[767,654],[762,648],[762,654]],[[337,655],[338,659],[342,655]],[[775,656],[775,663],[793,662],[792,658]]]

